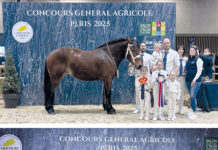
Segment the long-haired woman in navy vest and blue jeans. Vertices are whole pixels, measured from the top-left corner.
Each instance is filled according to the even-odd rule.
[[[192,46],[189,49],[189,57],[186,63],[185,82],[191,96],[191,107],[193,112],[188,114],[189,119],[196,119],[197,100],[196,96],[201,85],[201,72],[203,69],[203,61],[199,58],[197,46]]]

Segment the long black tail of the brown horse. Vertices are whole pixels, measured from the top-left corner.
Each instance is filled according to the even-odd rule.
[[[45,108],[48,111],[49,99],[51,96],[51,78],[48,73],[47,64],[45,63],[45,72],[44,72],[44,96],[45,96]]]

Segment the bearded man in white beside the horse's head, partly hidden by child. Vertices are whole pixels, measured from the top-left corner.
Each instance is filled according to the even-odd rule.
[[[146,67],[148,71],[148,75],[151,75],[151,70],[153,67],[153,57],[152,55],[146,53],[146,44],[141,43],[140,44],[140,55],[142,59],[143,66]],[[132,67],[134,67],[132,64],[129,64],[129,71],[133,70]],[[132,73],[133,74],[133,73]],[[140,70],[134,68],[134,76],[135,76],[135,101],[136,101],[136,109],[133,111],[133,113],[139,113],[140,110],[140,87],[136,86],[137,84],[137,78],[140,76]]]

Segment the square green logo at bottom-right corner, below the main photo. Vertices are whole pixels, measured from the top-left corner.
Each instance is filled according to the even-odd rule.
[[[218,150],[218,137],[205,137],[204,150]]]

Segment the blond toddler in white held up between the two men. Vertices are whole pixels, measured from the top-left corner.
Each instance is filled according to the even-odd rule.
[[[153,56],[153,71],[156,70],[156,63],[158,60],[162,60],[163,59],[163,53],[161,51],[162,49],[162,45],[160,43],[154,43],[154,51],[152,53]]]

